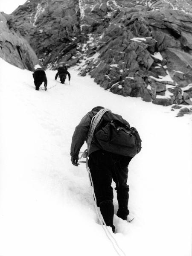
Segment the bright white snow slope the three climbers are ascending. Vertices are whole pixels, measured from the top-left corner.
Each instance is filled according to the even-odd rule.
[[[48,70],[47,92],[35,91],[30,71],[0,60],[0,255],[117,255],[96,217],[84,163],[70,163],[75,126],[103,105],[143,140],[129,166],[135,219],[115,215],[113,236],[128,256],[190,256],[191,116],[176,118],[170,107],[115,95],[69,71],[70,84]]]

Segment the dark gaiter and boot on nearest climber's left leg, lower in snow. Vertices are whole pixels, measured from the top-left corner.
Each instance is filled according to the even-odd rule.
[[[112,228],[113,233],[115,233],[115,226],[113,225],[113,215],[114,215],[114,206],[111,200],[102,201],[99,204],[101,214],[107,226]]]

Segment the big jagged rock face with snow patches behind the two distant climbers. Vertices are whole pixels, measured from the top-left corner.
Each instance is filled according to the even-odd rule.
[[[78,64],[113,93],[190,105],[190,1],[30,0],[12,26],[46,66]]]

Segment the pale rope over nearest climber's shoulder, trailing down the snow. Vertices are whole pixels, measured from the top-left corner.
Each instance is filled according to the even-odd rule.
[[[106,223],[105,223],[105,221],[103,219],[102,214],[97,209],[96,196],[95,196],[94,187],[93,187],[93,180],[92,180],[90,169],[89,169],[89,166],[88,166],[88,158],[87,158],[87,156],[88,156],[88,152],[90,150],[90,144],[91,144],[91,141],[92,141],[92,138],[93,138],[93,133],[95,131],[96,126],[100,122],[102,116],[107,111],[111,112],[110,109],[104,108],[104,109],[101,109],[95,116],[93,116],[93,118],[91,120],[91,125],[90,125],[90,129],[89,129],[88,137],[87,137],[87,149],[84,151],[84,153],[82,154],[81,157],[86,158],[86,169],[87,169],[87,173],[88,173],[89,180],[90,180],[90,188],[91,188],[91,191],[92,191],[92,195],[93,195],[93,199],[94,199],[94,206],[95,206],[95,209],[96,209],[97,217],[99,218],[99,222],[102,225],[102,228],[105,231],[105,234],[108,237],[109,241],[111,241],[111,244],[112,244],[114,250],[116,251],[117,255],[118,256],[126,256],[124,251],[119,247],[119,245],[117,244],[117,241],[115,240],[115,238],[112,236],[112,234],[108,230],[107,225],[106,225]]]

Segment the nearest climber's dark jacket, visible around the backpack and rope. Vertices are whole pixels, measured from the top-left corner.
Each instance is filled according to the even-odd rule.
[[[70,155],[72,157],[78,157],[79,151],[80,151],[82,145],[84,144],[85,141],[87,142],[87,136],[88,136],[88,132],[89,132],[90,124],[91,124],[91,119],[93,118],[94,115],[96,115],[96,113],[97,112],[95,112],[95,111],[88,112],[81,119],[81,122],[79,123],[79,125],[76,126],[76,129],[75,129],[75,131],[73,133],[73,137],[72,137],[72,143],[71,143]],[[104,114],[104,116],[102,117],[102,119],[105,117],[106,120],[110,121],[113,119],[112,115],[113,115],[113,113],[106,112]],[[116,116],[119,116],[119,115],[116,114]],[[122,119],[122,116],[119,116],[119,118]],[[125,122],[126,125],[129,125],[129,123],[125,119],[122,119],[122,120],[123,120],[123,122]],[[89,155],[91,153],[93,153],[94,151],[97,151],[100,149],[102,149],[102,148],[100,148],[99,145],[96,143],[96,140],[94,139],[94,135],[93,135],[93,140],[90,145]]]

